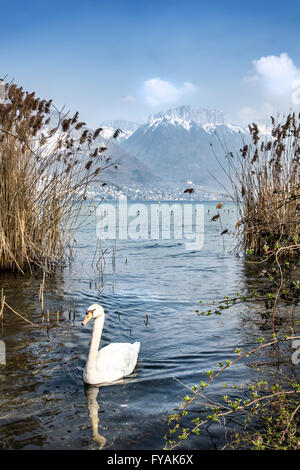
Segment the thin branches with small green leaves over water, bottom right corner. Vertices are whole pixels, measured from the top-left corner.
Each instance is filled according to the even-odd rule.
[[[175,449],[191,436],[199,436],[202,429],[207,429],[213,423],[225,429],[228,421],[233,421],[238,431],[231,432],[223,448],[300,449],[300,384],[294,377],[289,378],[281,374],[280,378],[276,377],[277,382],[276,380],[271,382],[269,378],[268,380],[260,379],[243,387],[228,387],[225,383],[224,388],[229,389],[229,394],[224,394],[218,401],[213,402],[203,395],[212,382],[219,379],[228,368],[237,365],[241,360],[265,348],[299,338],[300,336],[286,336],[267,343],[263,338],[257,338],[259,346],[245,352],[236,348],[235,360],[226,360],[225,363],[217,364],[219,370],[216,372],[206,371],[208,376],[206,382],[202,381],[191,387],[183,384],[189,388],[192,396],[186,395],[180,411],[169,416],[169,431],[165,435],[164,449]],[[271,369],[266,370],[255,364],[252,367],[265,376],[267,372],[271,376],[276,375]],[[241,393],[244,394],[242,398]],[[199,414],[199,408],[202,410],[202,417],[195,417],[195,414]]]

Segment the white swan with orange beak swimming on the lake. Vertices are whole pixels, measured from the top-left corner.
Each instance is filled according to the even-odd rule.
[[[115,382],[134,370],[140,350],[140,343],[111,343],[99,349],[104,325],[104,310],[93,304],[87,309],[82,325],[94,319],[93,335],[88,360],[83,372],[83,380],[91,385]]]

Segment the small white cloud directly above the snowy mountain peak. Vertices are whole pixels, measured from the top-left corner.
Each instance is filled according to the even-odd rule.
[[[160,78],[150,78],[144,83],[146,102],[151,106],[176,102],[182,96],[193,93],[195,90],[195,85],[190,82],[184,82],[179,88],[176,88],[171,82],[161,80]]]

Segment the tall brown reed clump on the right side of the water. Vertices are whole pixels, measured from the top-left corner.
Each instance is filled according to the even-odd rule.
[[[271,120],[269,138],[253,123],[252,142],[227,156],[240,213],[239,248],[258,256],[298,244],[300,237],[300,114]]]

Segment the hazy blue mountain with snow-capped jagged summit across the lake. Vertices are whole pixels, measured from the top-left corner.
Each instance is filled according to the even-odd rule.
[[[224,178],[215,158],[249,142],[246,129],[226,121],[221,111],[181,106],[149,116],[121,146],[165,181],[192,181],[216,188]]]

